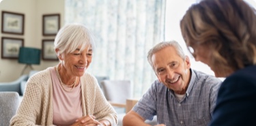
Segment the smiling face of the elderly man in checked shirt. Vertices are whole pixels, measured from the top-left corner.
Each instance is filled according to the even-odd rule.
[[[172,46],[152,55],[154,71],[158,80],[177,94],[186,93],[190,80],[190,61],[182,59]]]

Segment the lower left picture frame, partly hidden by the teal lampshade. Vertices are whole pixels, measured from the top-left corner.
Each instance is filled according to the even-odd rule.
[[[23,39],[1,37],[1,59],[18,59],[18,52],[23,45]]]

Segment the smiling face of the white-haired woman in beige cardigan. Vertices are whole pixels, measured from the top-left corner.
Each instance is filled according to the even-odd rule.
[[[85,70],[89,67],[92,60],[92,48],[86,46],[84,50],[76,48],[74,52],[63,54],[61,57],[63,66],[66,68],[66,74],[72,76],[83,76]]]

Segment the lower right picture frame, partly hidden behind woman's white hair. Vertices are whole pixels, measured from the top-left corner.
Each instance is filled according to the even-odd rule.
[[[54,40],[42,40],[42,59],[45,61],[58,61],[54,49]]]

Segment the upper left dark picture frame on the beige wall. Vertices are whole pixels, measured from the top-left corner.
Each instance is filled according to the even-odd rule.
[[[24,34],[25,15],[16,12],[2,11],[2,33]]]

